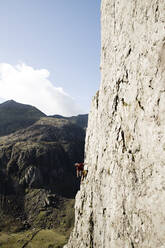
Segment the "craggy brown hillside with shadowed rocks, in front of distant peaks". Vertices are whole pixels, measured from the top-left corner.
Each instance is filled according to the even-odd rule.
[[[83,128],[50,117],[0,137],[0,231],[55,228],[67,237],[84,141]]]

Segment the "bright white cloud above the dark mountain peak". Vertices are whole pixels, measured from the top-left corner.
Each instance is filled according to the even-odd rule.
[[[0,99],[31,104],[47,115],[82,112],[61,87],[52,84],[48,70],[36,70],[25,64],[0,63]]]

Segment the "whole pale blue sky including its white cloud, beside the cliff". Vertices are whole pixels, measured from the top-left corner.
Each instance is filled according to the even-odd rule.
[[[47,114],[89,112],[100,84],[100,0],[5,0],[0,23],[1,102],[15,98]],[[56,107],[44,109],[47,102]]]

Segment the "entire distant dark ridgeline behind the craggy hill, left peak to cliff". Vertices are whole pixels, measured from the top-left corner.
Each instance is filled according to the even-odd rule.
[[[72,117],[64,117],[61,115],[49,116],[32,105],[8,100],[0,104],[0,137],[13,133],[21,128],[26,128],[42,117],[70,120],[72,123],[83,128],[86,128],[88,120],[87,114]]]

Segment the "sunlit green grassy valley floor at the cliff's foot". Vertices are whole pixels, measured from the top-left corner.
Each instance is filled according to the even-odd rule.
[[[34,219],[34,226],[29,230],[20,231],[21,225],[9,216],[3,216],[5,222],[0,227],[0,248],[62,248],[67,243],[74,224],[74,199],[66,199],[54,210],[54,216],[40,211]],[[43,223],[55,224],[55,228],[43,229]],[[6,226],[6,228],[3,227]],[[10,228],[9,228],[10,227]]]

